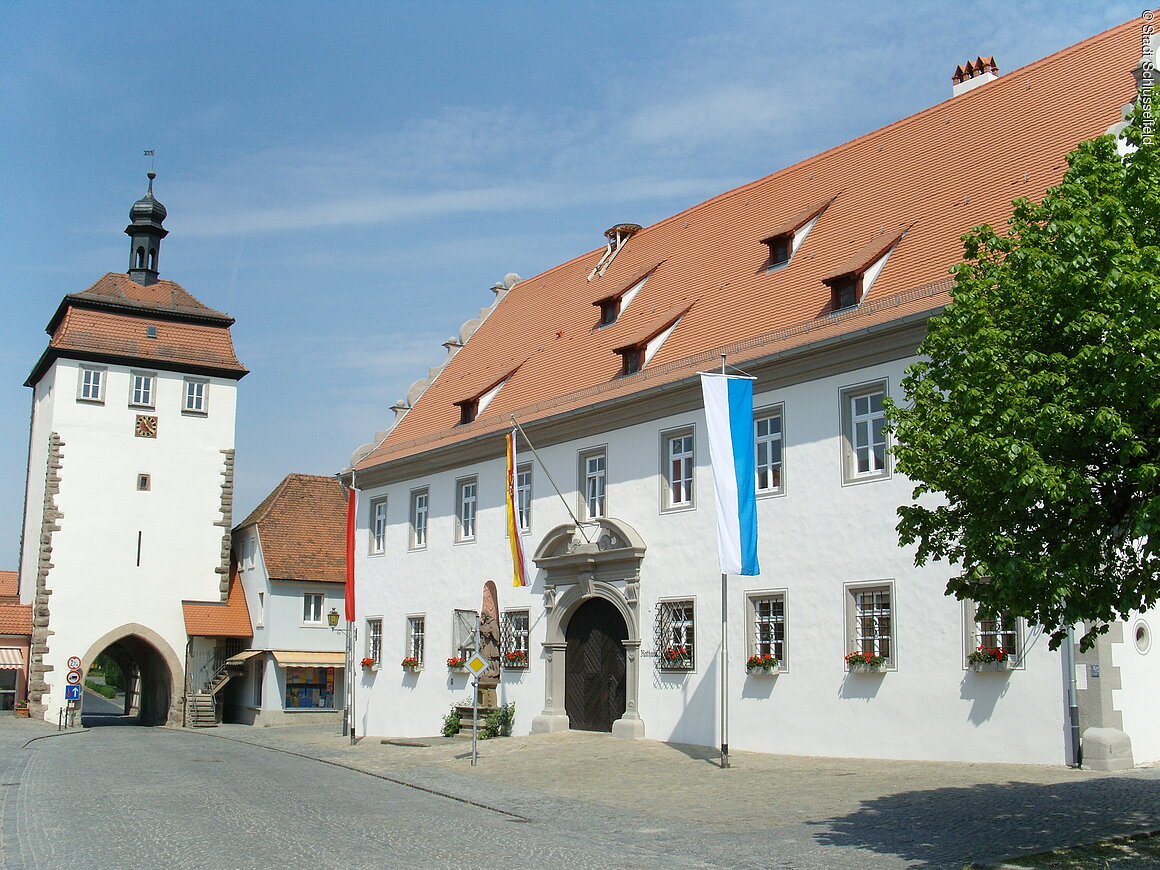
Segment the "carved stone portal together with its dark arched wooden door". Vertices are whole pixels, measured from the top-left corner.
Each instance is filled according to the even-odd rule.
[[[532,733],[611,731],[639,738],[640,561],[636,529],[611,517],[558,525],[536,550],[544,570],[548,668]]]

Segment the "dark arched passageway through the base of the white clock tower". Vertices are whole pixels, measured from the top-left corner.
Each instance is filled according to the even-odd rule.
[[[129,635],[101,652],[121,668],[124,690],[108,701],[86,691],[81,708],[82,724],[165,725],[173,701],[173,674],[158,648],[137,635]]]

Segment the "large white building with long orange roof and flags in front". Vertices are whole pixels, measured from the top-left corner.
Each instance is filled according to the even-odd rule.
[[[364,652],[383,666],[362,677],[358,732],[432,734],[470,697],[444,658],[494,581],[498,699],[516,704],[517,732],[716,745],[725,667],[737,749],[1065,763],[1074,676],[1089,762],[1160,757],[1155,615],[1087,655],[976,621],[944,595],[949,566],[916,568],[898,546],[912,484],[880,403],[949,299],[960,235],[1042,197],[1065,154],[1121,119],[1139,56],[1124,24],[498,287],[345,474],[360,491],[358,621],[380,638]],[[697,379],[723,357],[756,378],[762,565],[728,578],[727,662]],[[512,586],[505,523],[513,419],[538,454],[521,437],[527,588]],[[1007,667],[976,673],[979,645],[1006,648]],[[851,670],[851,652],[884,665]],[[777,667],[748,674],[755,654]]]

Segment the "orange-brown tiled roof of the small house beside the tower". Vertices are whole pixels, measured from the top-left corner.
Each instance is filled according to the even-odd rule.
[[[347,580],[347,500],[333,477],[287,474],[234,531],[258,528],[271,580]]]

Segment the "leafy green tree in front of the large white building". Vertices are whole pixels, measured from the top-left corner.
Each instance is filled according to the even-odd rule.
[[[1009,232],[963,237],[951,304],[891,406],[915,564],[948,594],[1043,625],[1051,647],[1160,597],[1160,164],[1086,142]]]

